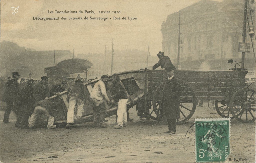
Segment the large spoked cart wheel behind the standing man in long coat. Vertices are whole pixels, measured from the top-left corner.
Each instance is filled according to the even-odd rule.
[[[194,92],[194,90],[190,87],[188,83],[186,83],[184,80],[180,80],[181,82],[181,88],[182,93],[180,96],[180,118],[177,119],[177,124],[183,124],[188,119],[192,117],[192,115],[195,113],[196,105],[197,105],[197,97]],[[153,111],[156,114],[156,117],[152,116],[153,111],[150,114],[150,118],[154,120],[159,120],[159,118],[163,117],[163,110],[162,110],[162,98],[163,98],[163,87],[164,82],[160,84],[156,91],[154,92],[153,97]]]

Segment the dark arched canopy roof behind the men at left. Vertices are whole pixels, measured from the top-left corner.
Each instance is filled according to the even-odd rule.
[[[56,66],[46,67],[45,73],[50,78],[63,78],[68,77],[74,73],[86,73],[93,64],[85,59],[68,59],[59,62]]]

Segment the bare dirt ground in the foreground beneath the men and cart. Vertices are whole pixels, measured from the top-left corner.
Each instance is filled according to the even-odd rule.
[[[164,134],[167,125],[140,119],[135,107],[130,109],[133,121],[123,129],[114,129],[115,117],[107,128],[92,128],[92,123],[74,125],[71,129],[19,129],[3,124],[1,111],[1,162],[195,162],[195,133],[187,130],[194,118],[218,118],[207,103],[197,107],[193,117],[177,125],[174,135]],[[231,120],[229,158],[255,162],[255,123],[242,124]],[[234,161],[226,161],[234,162]]]

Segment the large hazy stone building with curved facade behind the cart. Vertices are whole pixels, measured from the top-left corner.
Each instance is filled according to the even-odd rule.
[[[180,65],[182,70],[228,70],[227,60],[241,61],[242,0],[222,2],[202,0],[180,10]],[[253,6],[253,1],[249,1]],[[177,64],[179,12],[162,24],[162,49]],[[256,23],[256,22],[255,22]],[[251,44],[250,37],[247,43]],[[255,45],[254,45],[255,46]],[[255,70],[252,48],[246,53],[245,67]]]

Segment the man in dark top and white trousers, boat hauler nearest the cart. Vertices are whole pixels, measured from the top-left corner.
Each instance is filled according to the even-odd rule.
[[[118,100],[118,109],[117,109],[117,125],[114,126],[115,129],[123,128],[127,126],[127,101],[129,95],[124,88],[123,83],[120,80],[120,77],[117,74],[113,74],[113,92],[115,94],[115,99]]]

